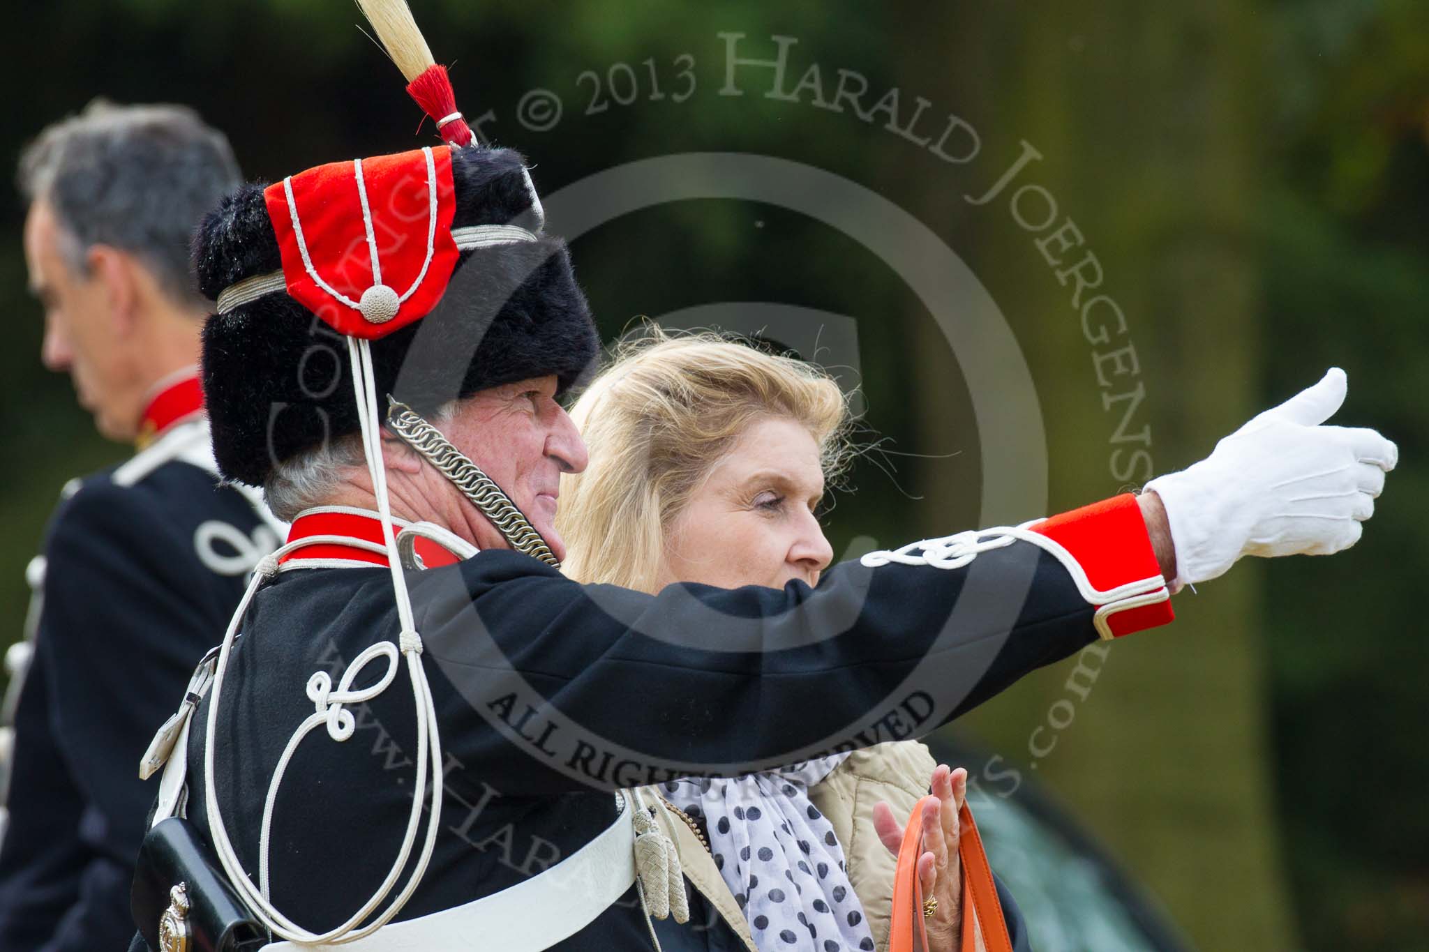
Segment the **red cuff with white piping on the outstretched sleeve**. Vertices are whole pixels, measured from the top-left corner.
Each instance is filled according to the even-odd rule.
[[[1053,542],[1043,548],[1097,607],[1093,621],[1102,638],[1120,638],[1176,617],[1135,495],[1112,497],[1027,528]]]

